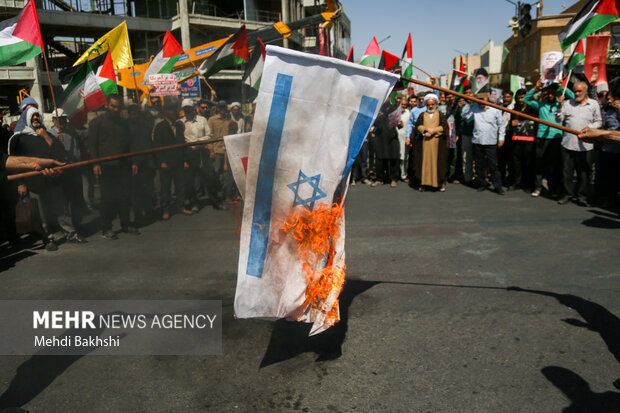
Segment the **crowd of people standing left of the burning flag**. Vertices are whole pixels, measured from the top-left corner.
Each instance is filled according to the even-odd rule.
[[[121,96],[110,95],[104,110],[87,127],[69,122],[58,109],[52,113],[53,127],[46,128],[32,98],[22,101],[20,111],[13,130],[2,127],[0,152],[13,161],[29,161],[31,169],[218,139],[249,130],[252,123],[252,116],[243,116],[238,102],[202,99],[196,104],[193,99],[158,96],[150,96],[142,106],[125,108]],[[155,219],[198,212],[200,194],[208,195],[214,209],[239,200],[221,140],[105,160],[60,176],[49,169],[45,172],[2,183],[0,219],[3,238],[9,243],[20,241],[15,226],[18,200],[36,201],[48,251],[58,249],[59,232],[62,242],[87,242],[78,228],[96,200],[101,235],[109,240],[118,238],[112,226],[116,217],[120,233],[139,235],[139,228]]]

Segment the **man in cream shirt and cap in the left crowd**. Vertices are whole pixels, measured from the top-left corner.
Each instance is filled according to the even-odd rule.
[[[183,113],[181,119],[185,125],[185,142],[197,142],[211,137],[209,122],[202,116],[196,114],[194,101],[183,99]],[[198,212],[198,194],[196,191],[196,178],[200,173],[200,154],[201,146],[189,146],[185,151],[185,159],[188,168],[185,169],[185,207],[192,212]]]

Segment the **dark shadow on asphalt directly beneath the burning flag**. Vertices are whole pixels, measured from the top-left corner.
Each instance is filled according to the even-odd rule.
[[[340,321],[326,331],[309,337],[309,323],[278,320],[275,322],[269,345],[260,368],[289,360],[302,353],[318,354],[316,361],[337,359],[342,355],[342,343],[347,334],[349,307],[359,294],[379,284],[378,281],[347,280],[340,293]]]

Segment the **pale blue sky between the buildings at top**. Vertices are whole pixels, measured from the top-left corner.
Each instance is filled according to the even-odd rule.
[[[543,14],[559,14],[575,2],[544,0]],[[351,20],[356,60],[362,57],[372,36],[379,42],[391,36],[379,46],[400,56],[411,32],[413,64],[434,75],[452,70],[452,58],[460,54],[455,49],[474,54],[491,39],[495,44],[503,44],[512,35],[508,21],[515,15],[515,6],[506,0],[342,0],[341,3]],[[531,15],[536,17],[535,7]],[[424,76],[421,72],[415,74]]]

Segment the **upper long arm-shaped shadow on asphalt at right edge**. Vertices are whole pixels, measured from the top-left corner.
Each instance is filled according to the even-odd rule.
[[[519,287],[508,287],[507,290],[553,297],[560,304],[577,311],[585,323],[575,318],[566,318],[563,321],[575,327],[585,327],[590,331],[597,332],[611,354],[620,362],[620,319],[602,305],[571,294],[527,290]]]

